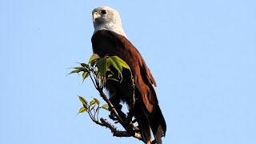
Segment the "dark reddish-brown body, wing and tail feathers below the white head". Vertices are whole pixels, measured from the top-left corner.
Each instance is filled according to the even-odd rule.
[[[150,141],[150,129],[156,141],[162,143],[161,137],[166,134],[166,122],[158,106],[158,98],[154,91],[156,82],[150,70],[146,66],[142,55],[124,36],[111,30],[98,30],[91,38],[93,50],[100,57],[105,55],[118,56],[129,66],[134,75],[135,97],[138,98],[134,105],[134,116],[138,121],[138,126],[144,142]],[[114,98],[115,104],[120,100],[130,105],[130,72],[123,71],[121,83],[109,81],[106,88],[110,91],[110,96]]]

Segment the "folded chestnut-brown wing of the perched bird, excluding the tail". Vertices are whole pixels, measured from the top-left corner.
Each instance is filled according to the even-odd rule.
[[[156,82],[142,55],[133,44],[127,38],[111,30],[96,32],[92,37],[92,44],[94,53],[99,54],[100,57],[105,56],[105,54],[117,55],[130,66],[134,74],[135,87],[141,94],[147,109],[152,111],[152,105],[158,105],[158,98],[152,86],[156,86]]]

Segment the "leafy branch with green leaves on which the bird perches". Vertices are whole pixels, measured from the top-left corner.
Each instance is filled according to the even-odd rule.
[[[79,73],[81,71],[88,72],[91,81],[94,84],[94,87],[96,88],[96,90],[98,90],[100,96],[103,98],[103,100],[108,104],[108,110],[110,110],[110,116],[113,117],[111,119],[113,119],[114,121],[117,120],[122,127],[126,130],[126,131],[121,131],[118,130],[114,125],[111,125],[109,122],[106,121],[106,119],[104,118],[100,118],[100,121],[98,119],[98,114],[99,114],[99,109],[102,107],[99,107],[99,102],[98,99],[94,98],[93,101],[90,102],[90,105],[88,105],[85,99],[80,99],[80,101],[83,103],[83,106],[86,108],[86,111],[88,112],[90,118],[92,119],[93,122],[95,122],[96,124],[100,125],[100,126],[106,126],[107,128],[109,128],[111,130],[111,132],[113,133],[114,136],[116,137],[134,137],[134,138],[138,138],[139,140],[142,140],[142,135],[138,133],[138,126],[134,125],[134,122],[132,121],[132,118],[134,117],[134,103],[136,101],[135,99],[135,94],[134,94],[134,90],[135,90],[135,86],[134,86],[134,78],[133,78],[133,74],[130,71],[130,81],[131,81],[131,86],[130,86],[130,91],[129,91],[129,95],[130,95],[130,102],[128,102],[129,107],[129,112],[128,114],[124,114],[122,112],[122,106],[119,109],[119,107],[117,106],[116,108],[114,107],[114,105],[110,102],[110,99],[106,97],[106,94],[103,93],[103,87],[106,84],[106,80],[108,77],[108,75],[106,76],[106,74],[102,74],[102,72],[106,72],[106,70],[109,70],[110,66],[113,66],[116,70],[118,70],[118,74],[121,74],[122,77],[122,69],[119,69],[118,66],[122,66],[125,67],[126,69],[130,70],[130,67],[126,64],[126,62],[124,62],[121,58],[118,58],[116,56],[114,57],[114,61],[112,59],[112,63],[110,63],[110,65],[99,65],[98,62],[100,61],[101,63],[103,61],[103,63],[107,63],[110,62],[109,58],[110,57],[104,57],[103,60],[101,60],[98,56],[98,54],[93,54],[90,58],[89,64],[90,65],[86,65],[86,64],[81,64],[82,67],[75,67],[75,69],[77,70],[73,70],[70,74],[73,73]],[[115,62],[115,63],[113,63]],[[94,70],[97,67],[97,70]],[[86,68],[86,71],[85,71]],[[98,74],[101,74],[100,77],[98,77]],[[85,79],[87,76],[83,76],[83,79]],[[119,77],[119,76],[118,76]],[[122,80],[121,80],[122,81]],[[97,100],[97,104],[98,107],[96,110],[94,110],[94,105],[95,105],[95,101]],[[93,106],[93,107],[90,107]],[[107,110],[106,107],[103,107],[104,109]],[[81,109],[80,109],[81,110]],[[79,113],[82,113],[83,111],[80,111]],[[94,110],[94,114],[92,114],[92,110]]]

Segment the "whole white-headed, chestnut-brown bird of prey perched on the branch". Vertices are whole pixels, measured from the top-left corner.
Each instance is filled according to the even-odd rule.
[[[154,134],[154,142],[161,144],[162,137],[166,135],[166,121],[158,105],[157,94],[154,86],[157,86],[142,55],[128,40],[122,29],[121,18],[117,10],[108,6],[101,6],[92,11],[94,34],[91,38],[94,54],[99,57],[118,56],[129,66],[130,70],[122,71],[122,82],[109,80],[106,82],[106,90],[109,92],[110,101],[119,109],[120,102],[133,105],[130,101],[130,71],[134,78],[134,118],[138,122],[139,133],[142,141],[151,143],[151,131]],[[117,71],[114,71],[118,75]]]

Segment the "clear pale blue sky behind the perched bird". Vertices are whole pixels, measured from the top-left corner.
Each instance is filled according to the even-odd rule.
[[[158,83],[163,143],[256,143],[256,1],[0,0],[1,144],[142,143],[76,115],[78,94],[98,98],[66,77],[92,54],[98,6],[119,11]]]

